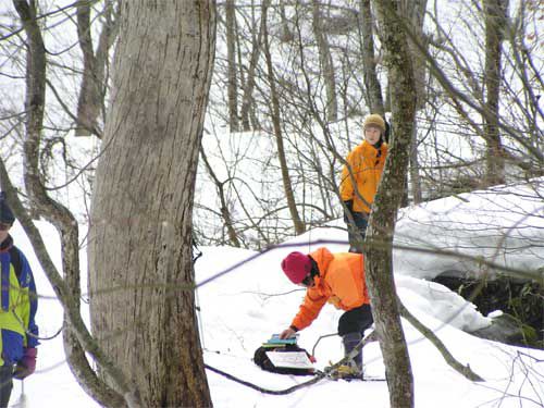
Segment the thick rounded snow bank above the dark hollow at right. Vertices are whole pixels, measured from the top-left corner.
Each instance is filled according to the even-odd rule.
[[[541,177],[404,209],[395,244],[429,249],[431,254],[396,250],[397,272],[431,279],[442,272],[493,274],[495,271],[479,263],[480,259],[521,273],[536,271],[544,265],[543,197],[544,177]],[[453,251],[478,259],[438,257],[433,251]]]

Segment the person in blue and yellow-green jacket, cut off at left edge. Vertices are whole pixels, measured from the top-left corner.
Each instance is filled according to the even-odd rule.
[[[0,193],[0,407],[8,407],[13,379],[36,370],[38,307],[33,272],[24,254],[13,245],[10,228],[15,217]]]

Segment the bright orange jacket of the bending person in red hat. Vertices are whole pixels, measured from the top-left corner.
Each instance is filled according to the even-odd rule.
[[[311,252],[310,257],[318,263],[319,276],[314,277],[314,285],[306,290],[292,325],[298,330],[309,326],[326,301],[343,310],[370,302],[361,254],[332,254],[323,247]]]

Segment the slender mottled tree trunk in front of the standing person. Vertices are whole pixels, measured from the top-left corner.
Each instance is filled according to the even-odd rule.
[[[416,118],[416,89],[406,33],[398,1],[376,1],[385,65],[392,92],[393,137],[367,230],[366,276],[380,347],[386,368],[390,404],[413,407],[413,378],[400,324],[393,277],[393,234],[405,190],[411,135]]]

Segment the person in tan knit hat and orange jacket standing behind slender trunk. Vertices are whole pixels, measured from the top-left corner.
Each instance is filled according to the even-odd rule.
[[[362,252],[360,243],[364,239],[370,208],[387,157],[386,131],[382,116],[368,115],[363,124],[364,140],[349,152],[342,170],[341,198],[355,221],[353,225],[345,212],[350,252]]]

